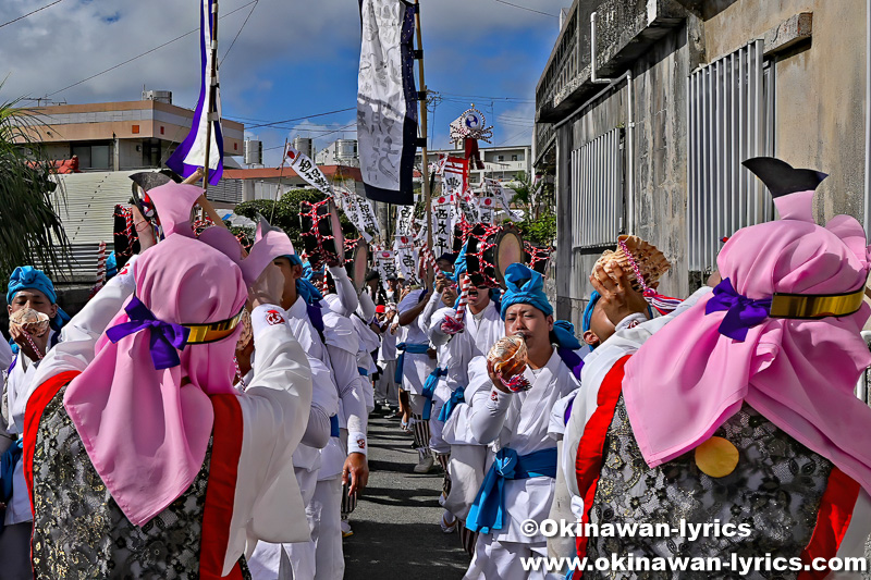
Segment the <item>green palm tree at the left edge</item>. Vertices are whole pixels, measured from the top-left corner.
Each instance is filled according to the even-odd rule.
[[[0,83],[0,88],[2,83]],[[0,102],[0,287],[17,266],[38,263],[58,273],[70,244],[56,208],[63,189],[50,178],[52,164],[30,131],[33,112],[19,100]],[[22,144],[26,144],[26,147]]]

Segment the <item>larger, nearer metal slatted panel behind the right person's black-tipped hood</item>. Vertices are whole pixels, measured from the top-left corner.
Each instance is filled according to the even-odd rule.
[[[690,271],[711,271],[724,237],[774,217],[741,161],[774,151],[774,75],[756,40],[690,75],[687,203]]]

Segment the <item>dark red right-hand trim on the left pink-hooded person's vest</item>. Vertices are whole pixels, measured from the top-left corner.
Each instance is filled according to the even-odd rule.
[[[238,398],[235,395],[214,395],[210,398],[214,408],[214,428],[199,555],[199,577],[203,580],[224,578],[221,572],[230,542],[243,435]],[[238,563],[225,578],[242,579]]]

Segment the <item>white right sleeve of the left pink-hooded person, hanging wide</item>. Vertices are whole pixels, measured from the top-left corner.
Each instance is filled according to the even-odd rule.
[[[311,407],[311,370],[277,306],[252,312],[257,357],[254,379],[238,397],[243,417],[231,535],[223,573],[258,540],[298,542],[308,535],[305,505],[293,471]],[[302,539],[302,540],[300,540]]]

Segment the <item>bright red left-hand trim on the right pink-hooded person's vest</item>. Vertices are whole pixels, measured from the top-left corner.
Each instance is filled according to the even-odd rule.
[[[626,355],[614,363],[602,381],[597,396],[597,408],[593,411],[587,425],[584,428],[584,435],[578,443],[578,454],[575,458],[575,477],[578,482],[578,492],[584,498],[584,523],[590,521],[590,509],[592,509],[596,497],[596,489],[599,484],[599,474],[602,469],[603,451],[605,435],[614,419],[614,410],[623,392],[623,374],[626,361],[631,355]],[[587,538],[578,535],[576,540],[577,555],[582,558],[587,553]],[[584,570],[577,569],[572,575],[575,580],[584,576]]]

